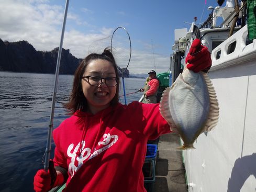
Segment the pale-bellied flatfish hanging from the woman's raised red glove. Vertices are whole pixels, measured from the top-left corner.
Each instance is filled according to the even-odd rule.
[[[219,117],[216,92],[208,74],[185,67],[162,94],[160,113],[183,140],[178,149],[194,149],[199,134],[213,130]]]

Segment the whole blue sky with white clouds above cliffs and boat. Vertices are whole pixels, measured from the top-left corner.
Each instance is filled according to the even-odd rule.
[[[59,47],[65,0],[0,0],[0,38],[26,40],[38,51]],[[167,72],[174,30],[204,22],[216,0],[70,0],[63,48],[76,58],[102,53],[111,44],[120,67],[130,74]],[[224,5],[225,6],[225,5]],[[189,24],[190,23],[190,24]],[[117,50],[121,50],[118,52]]]

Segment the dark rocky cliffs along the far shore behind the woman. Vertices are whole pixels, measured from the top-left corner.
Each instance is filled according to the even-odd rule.
[[[0,39],[0,71],[55,73],[59,48],[37,51],[27,41],[8,42]],[[62,49],[60,74],[74,74],[82,59],[75,58],[69,49]],[[129,71],[118,69],[119,76],[129,77]]]

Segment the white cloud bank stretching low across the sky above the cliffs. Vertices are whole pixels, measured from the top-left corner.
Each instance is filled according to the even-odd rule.
[[[0,0],[0,4],[0,38],[2,40],[10,42],[26,40],[40,51],[50,51],[59,47],[64,5],[50,5],[49,1],[43,0]],[[93,13],[86,8],[83,8],[83,12]],[[76,58],[84,58],[91,52],[102,52],[105,47],[110,46],[113,28],[90,26],[82,17],[72,13],[72,10],[69,10],[67,24],[70,24],[70,27],[65,30],[63,48],[70,49],[70,53]],[[90,32],[81,32],[75,25],[86,25]],[[122,54],[118,53],[116,57],[123,63],[128,63],[129,50]],[[140,50],[132,45],[128,70],[131,74],[147,74],[154,69],[155,65],[159,73],[167,71],[169,63],[169,55],[152,54],[149,43],[148,48],[145,46]]]

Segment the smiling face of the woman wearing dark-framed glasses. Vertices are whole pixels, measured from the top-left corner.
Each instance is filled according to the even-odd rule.
[[[102,59],[93,60],[87,65],[83,76],[90,75],[102,78],[116,77],[113,64]],[[90,85],[87,78],[83,78],[81,81],[83,93],[87,99],[89,112],[96,114],[98,111],[101,111],[110,105],[110,101],[116,94],[116,86],[108,87],[105,84],[105,80],[103,80],[102,84],[98,86]]]

